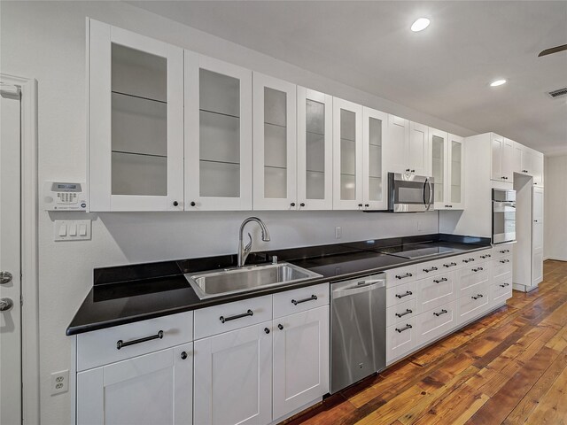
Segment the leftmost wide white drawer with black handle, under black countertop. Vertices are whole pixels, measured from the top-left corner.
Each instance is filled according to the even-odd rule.
[[[159,335],[160,338],[157,337]],[[150,336],[156,337],[136,343],[136,340]],[[79,334],[77,371],[107,365],[148,352],[157,352],[174,345],[189,343],[192,339],[193,312],[171,314]]]

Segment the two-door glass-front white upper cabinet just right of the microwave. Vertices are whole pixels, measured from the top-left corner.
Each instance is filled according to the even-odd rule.
[[[463,202],[463,139],[435,128],[429,129],[431,175],[434,179],[435,209],[462,210]]]

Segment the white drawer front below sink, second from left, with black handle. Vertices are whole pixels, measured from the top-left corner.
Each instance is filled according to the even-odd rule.
[[[214,305],[195,311],[195,339],[271,320],[271,295]]]

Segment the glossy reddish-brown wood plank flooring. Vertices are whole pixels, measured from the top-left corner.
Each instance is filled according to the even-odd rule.
[[[567,424],[567,262],[537,290],[286,421]]]

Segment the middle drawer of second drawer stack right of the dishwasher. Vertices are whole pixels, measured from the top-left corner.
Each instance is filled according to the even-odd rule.
[[[457,298],[454,273],[439,274],[416,283],[417,313],[427,312]]]

